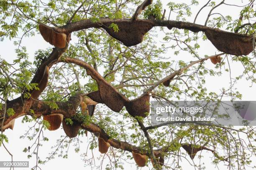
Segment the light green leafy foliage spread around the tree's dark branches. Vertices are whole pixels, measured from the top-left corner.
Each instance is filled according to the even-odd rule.
[[[221,13],[216,8],[217,12],[212,12],[206,25],[230,32],[237,31],[242,34],[255,35],[256,25],[249,24],[254,23],[256,17],[253,1],[243,1],[246,2],[241,2],[242,6],[238,1],[232,2],[238,5],[236,8],[238,9],[237,16],[234,17],[231,14],[225,16],[225,13]],[[10,56],[1,56],[0,58],[0,66],[3,67],[0,68],[0,113],[5,108],[5,98],[10,101],[23,94],[23,97],[27,99],[30,97],[28,90],[38,89],[38,83],[31,83],[31,80],[37,68],[47,60],[52,52],[52,46],[50,45],[48,48],[38,46],[33,51],[34,55],[33,52],[31,53],[28,50],[29,47],[25,40],[40,36],[38,23],[61,27],[66,25],[70,19],[70,22],[90,19],[93,23],[100,25],[101,18],[131,18],[132,12],[134,12],[131,9],[136,9],[136,5],[140,3],[139,0],[0,0],[0,40],[3,41],[1,43],[10,40],[16,48],[13,49],[15,54],[13,61],[9,58]],[[162,3],[164,4],[164,2],[157,0],[146,7],[143,18],[147,19],[153,15],[155,19],[161,20],[163,9],[166,8],[165,18],[193,23],[198,12],[195,9],[201,8],[205,2],[191,0],[189,3],[178,1],[169,1],[167,5]],[[212,0],[204,10],[209,12],[218,3]],[[233,6],[227,4],[222,5],[227,8]],[[239,4],[241,7],[239,7]],[[79,8],[80,5],[82,5],[81,8]],[[76,10],[77,13],[74,13]],[[241,16],[243,17],[239,19]],[[205,20],[206,16],[199,13],[195,23],[200,23],[202,18]],[[109,28],[113,29],[115,33],[119,31],[118,25],[115,23],[111,23]],[[173,73],[174,70],[179,70],[191,61],[219,53],[213,46],[212,49],[209,46],[209,49],[205,50],[205,44],[208,40],[204,33],[178,28],[172,28],[171,30],[153,28],[144,36],[141,44],[132,47],[125,47],[99,28],[78,30],[73,32],[71,36],[72,40],[67,51],[61,56],[59,62],[54,63],[54,66],[51,67],[48,85],[38,98],[38,100],[49,105],[51,110],[58,110],[57,103],[67,102],[69,97],[78,93],[86,94],[98,90],[97,82],[87,75],[85,69],[72,63],[63,62],[66,57],[87,62],[97,69],[102,77],[118,89],[120,93],[132,100],[140,96],[143,90],[151,87],[155,82]],[[163,37],[162,40],[159,40],[161,37]],[[37,40],[46,44],[41,37]],[[189,67],[184,70],[182,75],[175,77],[169,87],[164,87],[161,84],[154,88],[151,99],[154,97],[153,100],[164,101],[218,101],[223,98],[226,100],[241,100],[243,96],[240,89],[236,88],[236,84],[242,82],[244,88],[254,85],[256,82],[256,58],[253,54],[248,56],[225,54],[222,57],[222,62],[217,65],[211,65],[209,60],[205,60]],[[233,74],[232,68],[238,73]],[[8,73],[11,80],[4,71]],[[222,77],[225,77],[225,80]],[[210,80],[217,82],[213,85],[215,90],[208,88]],[[227,85],[222,87],[222,84],[218,83],[220,80]],[[13,108],[6,110],[6,115],[12,116],[14,114]],[[22,122],[35,125],[29,128],[28,133],[25,133],[21,138],[28,139],[31,145],[36,143],[36,147],[42,147],[43,143],[51,140],[42,133],[49,128],[49,122],[41,121],[41,119],[38,121],[35,110],[30,109],[26,114]],[[145,126],[150,126],[151,122],[142,117],[136,118],[137,120],[131,117],[125,108],[120,113],[116,113],[105,105],[97,105],[93,117],[83,115],[78,108],[74,117],[65,118],[64,120],[69,125],[73,124],[73,120],[80,120],[86,125],[90,123],[97,124],[102,130],[105,130],[111,139],[125,141],[138,148],[150,151],[143,130],[138,125],[138,120],[143,122]],[[180,149],[181,143],[196,143],[197,145],[214,148],[216,154],[222,155],[223,153],[225,156],[230,156],[228,165],[234,169],[238,168],[237,163],[241,167],[251,166],[251,155],[255,156],[256,153],[255,145],[251,144],[255,142],[255,128],[247,126],[240,130],[228,128],[181,124],[150,129],[148,133],[152,138],[151,143],[154,149],[169,146],[168,152],[164,153],[165,159],[170,160],[166,163],[165,169],[182,168],[179,166],[179,159],[187,159],[184,158],[187,155]],[[8,143],[8,137],[4,133],[0,134],[0,145]],[[247,143],[241,140],[239,136],[241,133],[246,135]],[[69,139],[66,136],[61,136],[56,141],[56,145],[53,146],[52,153],[47,158],[38,159],[37,163],[46,163],[45,161],[56,157],[70,158],[68,155],[69,146],[74,145],[75,152],[84,153],[85,165],[94,166],[92,165],[92,158],[88,156],[88,150],[97,150],[97,138],[96,135],[88,133],[89,147],[87,149],[80,148],[79,144],[84,139],[85,134],[85,130],[80,130],[77,138]],[[33,147],[35,149],[35,145]],[[25,148],[23,152],[28,153],[28,148]],[[40,153],[38,154],[28,153],[28,158],[39,158]],[[132,161],[131,153],[123,150],[113,149],[108,156],[111,158],[105,165],[106,169],[125,169],[123,162]],[[107,159],[106,156],[100,158]],[[198,158],[203,158],[203,154],[198,153]],[[214,157],[212,163],[218,166],[222,160],[223,157]],[[152,168],[150,161],[147,165]],[[95,167],[97,166],[95,165]],[[196,169],[205,168],[203,163],[194,166]]]

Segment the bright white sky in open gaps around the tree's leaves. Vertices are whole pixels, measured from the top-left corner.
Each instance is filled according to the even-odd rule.
[[[194,18],[195,18],[195,14],[197,13],[197,11],[202,7],[202,5],[204,5],[208,0],[200,0],[200,5],[198,5],[197,7],[192,8],[193,14],[191,16],[190,19],[188,19],[188,21],[193,22]],[[220,0],[218,0],[217,2],[219,2]],[[226,0],[227,3],[238,3],[238,4],[242,4],[241,0]],[[169,0],[163,0],[162,1],[164,4],[164,8],[167,10],[166,14],[169,14],[169,10],[168,7],[166,7],[166,3],[169,2]],[[185,2],[185,3],[189,3],[190,0],[172,0],[172,2]],[[205,8],[204,10],[201,11],[200,15],[197,18],[197,24],[202,24],[204,25],[205,23],[205,19],[207,16],[208,11],[210,10],[210,8]],[[225,15],[231,15],[233,17],[233,19],[238,18],[239,15],[239,11],[238,11],[238,7],[230,7],[230,6],[221,6],[219,7],[217,10],[214,11],[215,13],[220,12],[222,13],[224,16]],[[172,18],[171,19],[175,19]],[[159,37],[163,36],[163,34],[159,34]],[[73,42],[75,40],[72,40]],[[51,45],[49,45],[49,43],[45,42],[43,40],[43,38],[40,35],[36,35],[34,37],[26,37],[23,40],[23,45],[26,45],[27,47],[27,51],[28,54],[30,56],[30,60],[33,61],[33,54],[36,50],[38,49],[45,49],[46,47],[51,47]],[[201,45],[201,50],[199,55],[203,56],[203,55],[214,55],[215,52],[218,53],[218,50],[216,50],[216,48],[210,43],[210,41],[204,41],[203,43],[200,43]],[[13,59],[15,59],[16,55],[13,49],[15,49],[16,47],[13,45],[13,42],[11,42],[10,40],[4,40],[3,42],[0,42],[0,46],[1,49],[0,50],[0,56],[2,58],[4,58],[5,60],[7,60],[8,62],[12,62]],[[174,60],[174,58],[172,57],[173,53],[172,52],[168,52],[166,54],[167,56],[171,56],[171,60]],[[174,56],[174,57],[179,57],[182,58],[182,60],[186,60],[186,58],[189,58],[190,56],[187,55],[178,55],[178,56]],[[191,57],[190,57],[191,58]],[[188,59],[189,60],[189,59]],[[231,61],[231,60],[230,60]],[[214,65],[212,65],[209,61],[209,64],[207,65],[207,67],[214,67]],[[235,77],[235,75],[240,74],[243,70],[243,68],[241,67],[241,65],[239,65],[238,63],[231,63],[231,70],[232,70],[232,75],[233,77]],[[209,77],[206,79],[206,87],[209,91],[215,91],[215,92],[220,92],[220,89],[222,87],[228,87],[229,86],[229,72],[228,73],[224,73],[222,76],[220,77]],[[243,100],[255,100],[255,91],[256,91],[256,87],[255,85],[253,85],[253,87],[249,87],[251,84],[250,82],[247,82],[246,80],[240,80],[238,81],[236,87],[238,88],[238,91],[241,92],[241,94],[243,94]],[[25,133],[26,130],[28,130],[28,126],[32,126],[33,124],[31,123],[25,123],[22,124],[20,122],[21,118],[16,119],[15,121],[15,127],[14,130],[6,130],[5,131],[5,135],[8,136],[9,138],[9,143],[5,144],[6,147],[8,148],[8,150],[10,151],[10,153],[13,154],[13,159],[14,161],[29,161],[30,163],[30,168],[32,168],[35,164],[36,164],[36,160],[35,160],[35,156],[33,156],[33,158],[31,159],[27,159],[27,153],[23,153],[22,150],[25,147],[28,147],[28,145],[31,145],[33,143],[33,141],[29,141],[29,140],[23,140],[23,139],[19,139],[19,137],[21,135],[23,135]],[[56,140],[59,139],[59,137],[61,135],[65,135],[64,131],[62,129],[56,130],[56,131],[44,131],[44,134],[49,138],[49,142],[44,142],[43,146],[41,146],[39,148],[39,155],[42,159],[44,159],[46,156],[48,156],[48,153],[51,152],[51,146],[55,145]],[[90,136],[90,135],[89,135]],[[71,146],[71,148],[69,149],[69,158],[68,159],[63,159],[63,158],[55,158],[54,160],[49,161],[48,163],[46,163],[46,165],[40,165],[41,169],[43,170],[51,170],[51,169],[76,169],[76,170],[84,170],[84,169],[90,169],[90,167],[84,167],[84,161],[82,160],[82,157],[80,156],[82,153],[84,153],[84,150],[87,148],[87,137],[82,137],[83,142],[80,145],[80,149],[81,151],[79,153],[75,153],[74,152],[74,147]],[[84,150],[83,150],[84,148]],[[202,155],[204,155],[204,158],[202,158],[201,162],[204,161],[205,162],[205,166],[207,169],[216,169],[216,167],[214,165],[212,165],[212,163],[210,162],[210,157],[212,157],[212,154],[207,152],[207,151],[202,151]],[[97,151],[97,149],[93,150],[93,154],[95,156],[95,158],[97,156],[99,156],[99,152]],[[89,154],[90,156],[90,154]],[[88,158],[90,158],[88,156]],[[6,152],[6,150],[3,147],[0,147],[0,161],[9,161],[10,160],[10,156],[8,155],[8,153]],[[100,165],[100,160],[95,159],[96,161],[96,165]],[[197,158],[195,158],[195,163],[199,164],[199,160]],[[134,165],[134,161],[131,160],[129,161],[131,164],[128,163],[124,163],[124,167],[125,169],[135,169],[136,166]],[[254,166],[256,165],[255,162],[253,162]],[[253,165],[252,164],[252,165]],[[184,161],[181,163],[181,165],[184,165],[184,169],[187,168],[192,168],[187,161]],[[220,166],[222,167],[221,169],[225,169],[225,166]],[[7,170],[9,168],[0,168],[1,170]],[[15,168],[16,169],[16,168]],[[26,168],[17,168],[19,170],[26,170]],[[28,169],[28,168],[27,168]],[[96,169],[96,168],[93,168]],[[148,168],[141,168],[142,170],[147,170]]]

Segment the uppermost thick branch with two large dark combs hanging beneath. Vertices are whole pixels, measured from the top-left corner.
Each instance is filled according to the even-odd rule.
[[[115,32],[109,28],[110,24],[118,25],[119,31]],[[124,45],[130,47],[137,45],[143,41],[143,36],[153,27],[167,27],[168,29],[179,28],[187,29],[192,32],[205,32],[207,38],[220,51],[231,55],[248,55],[254,49],[252,47],[252,35],[242,35],[233,32],[227,32],[205,25],[188,23],[182,21],[169,20],[129,20],[101,18],[100,22],[94,23],[90,19],[81,20],[75,23],[64,25],[61,28],[55,28],[57,32],[73,32],[87,28],[103,28],[111,37],[123,42]],[[232,43],[231,43],[232,42]]]

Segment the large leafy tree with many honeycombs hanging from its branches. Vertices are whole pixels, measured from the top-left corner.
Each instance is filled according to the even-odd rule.
[[[67,147],[64,142],[74,143],[77,135],[87,135],[88,131],[92,134],[93,152],[97,146],[101,153],[114,148],[108,169],[123,169],[122,160],[133,158],[139,166],[178,169],[179,159],[187,159],[181,148],[191,159],[200,155],[198,151],[208,150],[216,165],[225,162],[230,168],[245,169],[256,153],[255,128],[178,122],[154,126],[148,112],[152,98],[167,102],[185,97],[241,99],[233,88],[236,80],[246,77],[251,83],[256,82],[253,3],[254,0],[243,2],[239,18],[233,20],[213,13],[221,5],[236,5],[225,0],[209,0],[200,4],[198,12],[190,10],[199,5],[196,0],[189,5],[169,2],[167,10],[162,9],[159,0],[1,0],[0,37],[13,40],[17,57],[13,63],[0,60],[0,144],[5,147],[8,137],[4,131],[12,129],[15,119],[23,116],[24,123],[34,121],[38,125],[29,129],[34,130],[32,135],[23,136],[31,140],[37,137],[36,145],[23,150],[33,150],[28,155],[37,158],[33,169],[46,161],[36,151],[41,139],[48,140],[42,132],[56,130],[61,123],[72,138],[61,138],[61,147]],[[134,5],[137,8],[131,11]],[[209,13],[205,25],[196,24],[206,8]],[[192,13],[196,13],[193,23],[186,20]],[[164,32],[168,43],[156,46],[154,31]],[[54,48],[38,47],[31,63],[22,40],[39,32]],[[201,40],[210,41],[220,52],[200,56],[197,42]],[[189,61],[179,56],[180,60],[170,62],[163,57],[169,48],[174,55],[186,54]],[[216,64],[216,70],[206,67],[207,59]],[[236,80],[227,78],[230,87],[223,88],[221,94],[208,92],[205,77],[230,72],[230,60],[241,63],[241,76]],[[109,109],[97,108],[99,103]],[[47,159],[56,156],[56,152]],[[115,159],[119,157],[122,159]],[[147,163],[148,159],[152,164]],[[201,165],[194,166],[201,169]]]

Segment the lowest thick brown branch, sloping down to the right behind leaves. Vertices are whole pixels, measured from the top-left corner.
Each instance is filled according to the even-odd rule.
[[[67,102],[56,102],[56,104],[58,105],[57,110],[51,109],[49,107],[49,105],[46,104],[46,102],[35,101],[33,103],[32,107],[31,107],[31,109],[34,110],[35,114],[32,115],[30,112],[28,112],[28,115],[41,117],[43,115],[62,114],[62,115],[64,115],[65,118],[74,118],[74,120],[76,120],[78,122],[79,121],[81,122],[81,120],[76,119],[74,117],[74,115],[75,115],[76,110],[79,107],[81,101],[84,100],[84,97],[85,96],[82,95],[82,94],[77,94],[74,97],[70,97]],[[141,149],[141,147],[137,147],[137,146],[131,145],[127,142],[111,138],[111,136],[109,136],[102,128],[100,128],[95,123],[84,123],[83,124],[81,122],[81,128],[95,134],[95,136],[97,136],[97,137],[100,136],[105,141],[110,143],[110,145],[114,148],[121,149],[121,150],[128,151],[128,152],[141,153],[141,154],[147,155],[148,157],[151,157],[151,158],[153,157],[153,155],[151,153],[154,153],[154,157],[160,157],[161,153],[171,153],[175,150],[175,149],[172,150],[170,148],[171,146],[169,145],[169,147],[163,147],[163,148],[158,149],[158,150],[153,150],[152,149],[149,152],[148,150]],[[142,125],[142,130],[146,130],[146,128],[143,125]],[[184,146],[184,145],[187,145],[187,144],[181,144],[181,147]],[[199,147],[199,148],[202,148],[202,147]],[[205,148],[202,148],[202,150],[210,150],[210,149],[205,147]],[[215,156],[217,155],[213,150],[210,150],[210,151],[212,153],[214,153]],[[155,165],[157,165],[157,164],[155,164]]]

